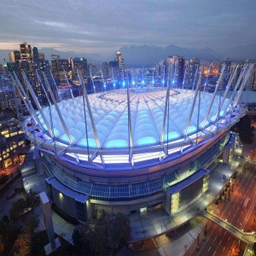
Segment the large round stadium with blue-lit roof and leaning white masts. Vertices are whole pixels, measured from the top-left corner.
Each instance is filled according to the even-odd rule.
[[[238,104],[252,67],[236,70],[223,93],[127,86],[61,100],[44,76],[42,107],[23,73],[37,110],[20,81],[15,88],[31,113],[24,123],[34,144],[38,175],[44,165],[49,199],[81,222],[101,212],[154,211],[172,215],[209,186],[211,164],[229,163],[236,146],[230,127],[245,114]],[[221,78],[221,75],[220,75]]]

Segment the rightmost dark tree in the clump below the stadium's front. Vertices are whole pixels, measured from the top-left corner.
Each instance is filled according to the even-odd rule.
[[[127,218],[125,214],[119,212],[112,219],[110,225],[110,236],[112,237],[113,241],[119,243],[119,247],[125,246],[126,241],[130,239],[130,219]]]

